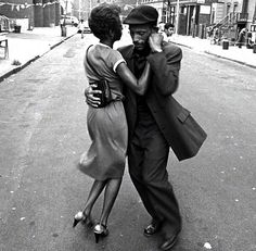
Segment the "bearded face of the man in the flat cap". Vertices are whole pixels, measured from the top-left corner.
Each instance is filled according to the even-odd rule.
[[[138,51],[144,50],[145,47],[148,46],[148,40],[152,33],[152,25],[150,24],[130,25],[129,29],[136,50]]]

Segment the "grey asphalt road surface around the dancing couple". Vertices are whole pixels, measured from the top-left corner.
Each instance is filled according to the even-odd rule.
[[[95,244],[90,230],[72,228],[92,184],[76,168],[90,142],[82,58],[92,40],[77,35],[0,84],[1,251],[157,250],[159,236],[142,235],[150,217],[127,172],[110,236]],[[182,50],[175,96],[208,138],[192,160],[179,163],[170,152],[183,216],[174,251],[255,251],[256,71]]]

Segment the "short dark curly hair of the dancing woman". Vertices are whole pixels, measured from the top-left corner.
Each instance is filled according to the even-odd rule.
[[[92,9],[89,17],[89,27],[99,39],[110,35],[110,30],[116,32],[120,28],[120,8],[115,4],[102,3]]]

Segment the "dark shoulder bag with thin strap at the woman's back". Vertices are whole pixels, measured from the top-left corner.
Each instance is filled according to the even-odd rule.
[[[104,108],[112,101],[111,88],[110,88],[108,81],[105,78],[103,78],[97,72],[95,67],[90,63],[90,61],[88,59],[88,49],[87,49],[87,52],[86,52],[87,62],[90,65],[90,67],[92,68],[92,71],[95,73],[95,75],[99,76],[99,78],[100,78],[100,80],[95,80],[95,81],[91,83],[91,84],[94,84],[97,86],[97,87],[93,87],[93,90],[100,90],[101,91],[101,93],[95,93],[93,96],[97,97],[97,98],[100,98],[100,100],[101,100],[101,103],[98,105],[98,108]]]

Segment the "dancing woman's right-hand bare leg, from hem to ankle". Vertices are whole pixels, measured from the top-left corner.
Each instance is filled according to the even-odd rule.
[[[121,184],[121,178],[108,179],[105,186],[103,209],[100,217],[100,223],[107,225],[107,218],[114,205]]]

